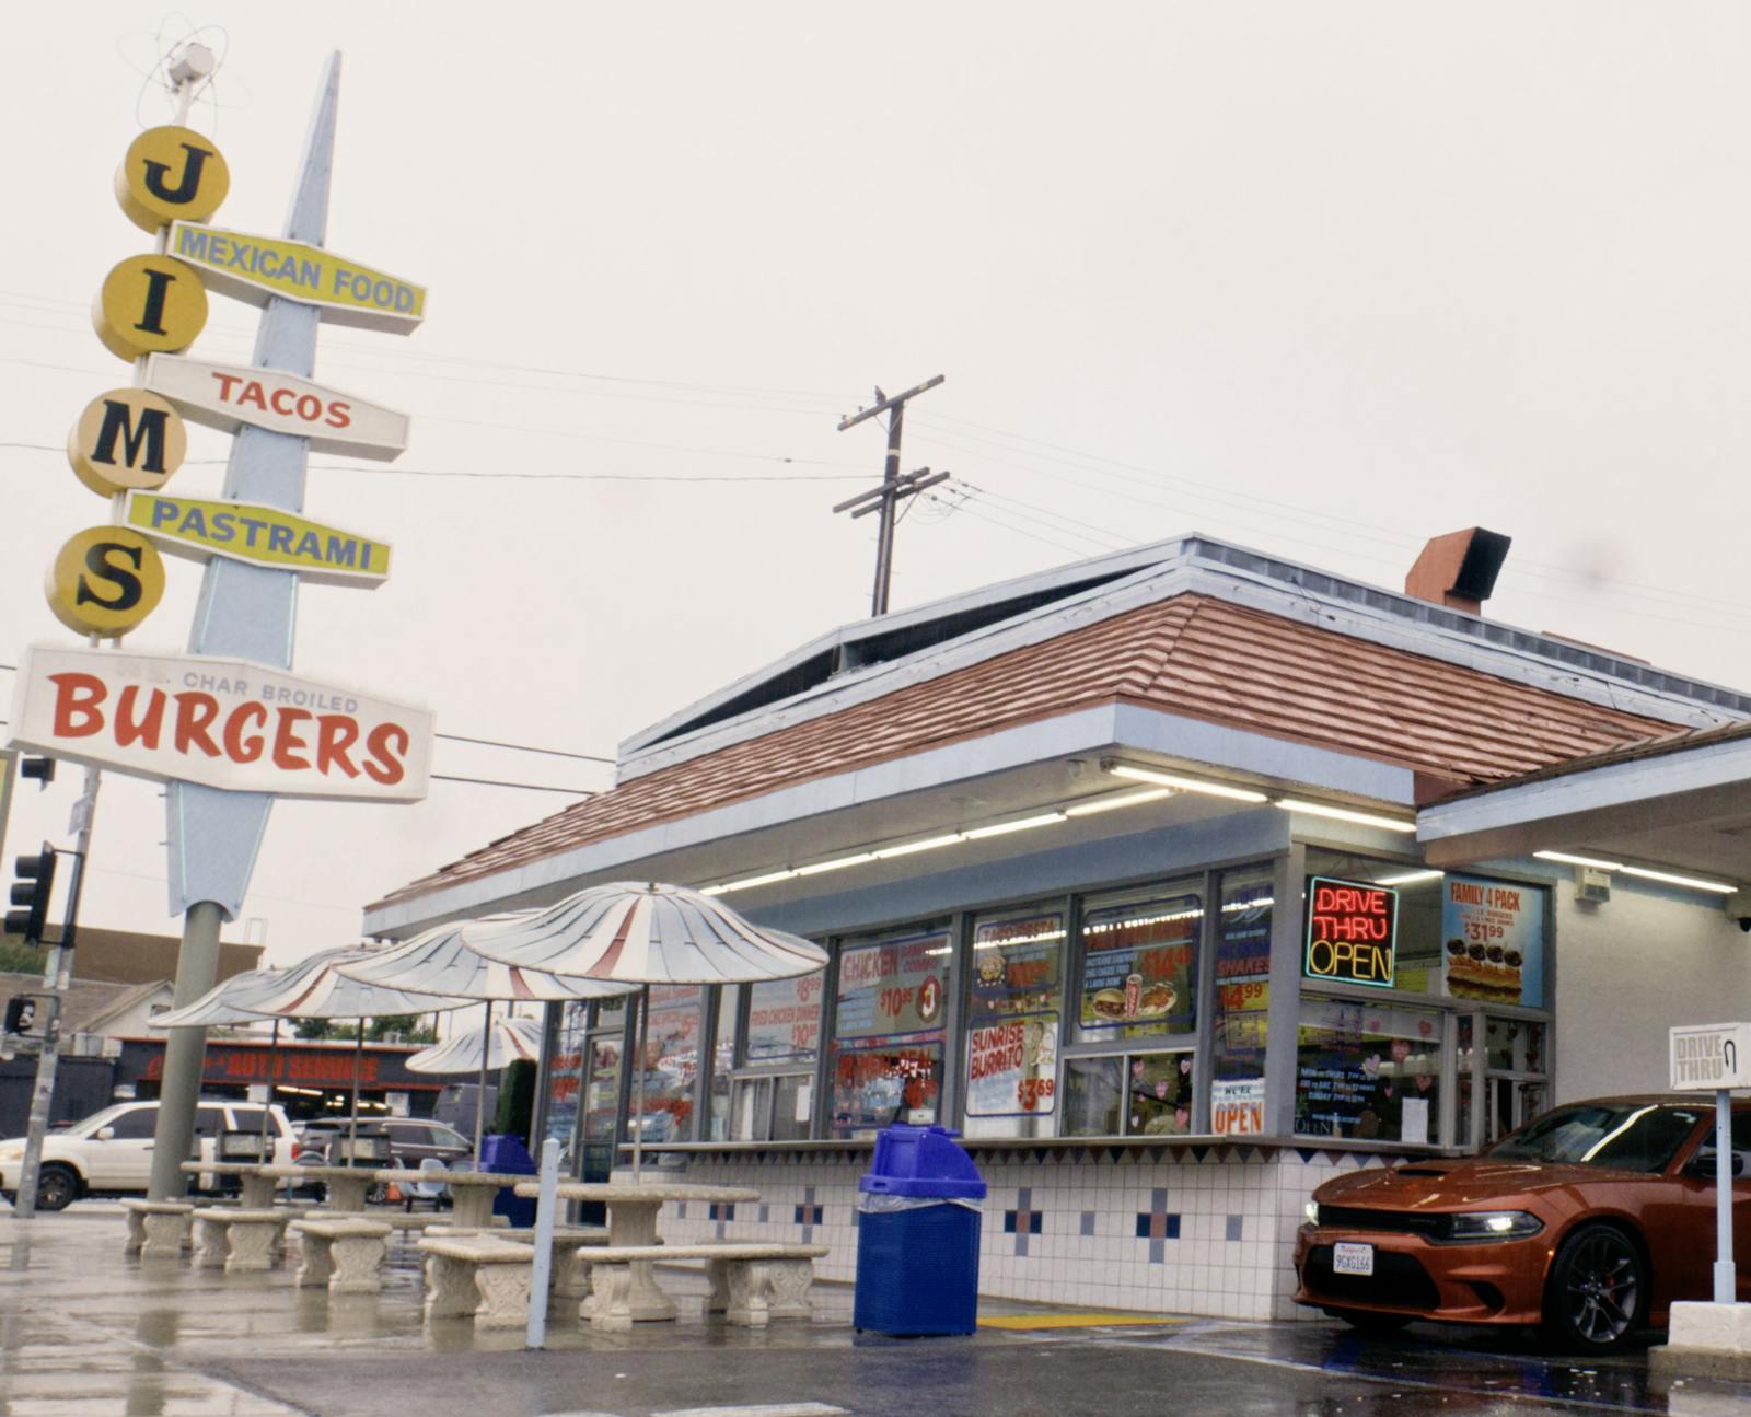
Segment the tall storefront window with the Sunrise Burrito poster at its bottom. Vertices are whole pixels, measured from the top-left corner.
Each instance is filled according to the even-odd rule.
[[[974,921],[968,1137],[1056,1135],[1063,1004],[1063,911],[1005,911]]]

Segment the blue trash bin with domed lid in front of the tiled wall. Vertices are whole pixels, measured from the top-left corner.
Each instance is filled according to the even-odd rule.
[[[890,1126],[858,1179],[851,1324],[895,1336],[979,1324],[979,1202],[986,1184],[946,1126]]]

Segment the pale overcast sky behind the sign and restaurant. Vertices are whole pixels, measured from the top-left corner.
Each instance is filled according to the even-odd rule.
[[[7,664],[77,643],[42,576],[107,510],[58,448],[130,382],[88,308],[149,249],[110,180],[170,117],[158,19],[7,11]],[[956,490],[902,524],[895,608],[1194,529],[1397,587],[1481,524],[1515,538],[1492,617],[1751,687],[1740,4],[306,0],[165,35],[191,23],[228,40],[193,119],[215,222],[280,231],[340,49],[329,245],[431,289],[413,336],[322,335],[317,378],[413,436],[389,471],[312,459],[306,511],[396,569],[301,592],[301,674],[611,755],[867,613],[872,518],[828,508],[881,429],[835,422],[946,373],[905,464]],[[252,331],[214,296],[191,354]],[[228,441],[191,427],[170,490],[215,496]],[[168,569],[138,648],[186,645],[200,571]],[[457,743],[436,771],[611,779]],[[9,857],[68,839],[79,778],[21,793]],[[566,800],[282,802],[245,914],[282,963],[355,939]],[[88,923],[180,930],[163,837],[159,788],[107,776]]]

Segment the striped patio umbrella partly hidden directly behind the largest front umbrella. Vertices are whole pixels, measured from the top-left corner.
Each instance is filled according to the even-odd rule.
[[[464,925],[506,925],[525,920],[536,911],[482,916],[478,921],[436,925],[404,944],[390,949],[373,949],[336,965],[341,974],[366,984],[406,990],[408,993],[440,993],[452,998],[480,998],[487,1004],[482,1037],[492,1028],[492,1004],[499,998],[566,1002],[602,998],[627,993],[630,984],[604,984],[594,979],[562,979],[536,969],[517,969],[499,960],[487,960],[462,942]],[[480,1082],[475,1093],[475,1160],[480,1161],[482,1135],[487,1130],[487,1070],[504,1067],[490,1063],[492,1047],[480,1046]],[[536,1046],[539,1053],[539,1042]],[[417,1054],[424,1056],[424,1054]],[[408,1067],[413,1067],[411,1060]],[[431,1072],[457,1072],[457,1068],[429,1068]]]

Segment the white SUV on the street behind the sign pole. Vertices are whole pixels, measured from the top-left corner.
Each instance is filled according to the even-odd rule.
[[[292,1124],[284,1107],[271,1107],[268,1130],[273,1133],[273,1160],[292,1161]],[[37,1209],[65,1210],[81,1196],[128,1195],[145,1191],[152,1175],[152,1130],[158,1126],[156,1102],[121,1102],[84,1121],[63,1126],[42,1139],[42,1172],[37,1177]],[[200,1158],[212,1160],[221,1131],[261,1131],[259,1102],[201,1098],[194,1114],[194,1144]],[[12,1202],[18,1195],[25,1139],[0,1142],[0,1193]],[[201,1177],[207,1184],[208,1177]]]

